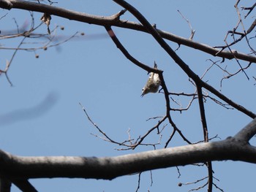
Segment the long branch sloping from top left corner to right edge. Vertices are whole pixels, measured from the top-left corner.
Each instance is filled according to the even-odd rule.
[[[83,23],[95,24],[99,26],[117,26],[121,28],[129,28],[137,31],[143,31],[148,33],[148,30],[143,27],[140,23],[135,23],[127,20],[119,20],[116,15],[103,17],[98,15],[89,15],[84,12],[75,12],[69,9],[63,9],[60,7],[54,7],[46,4],[37,4],[30,1],[23,0],[0,0],[0,7],[3,9],[25,9],[34,12],[48,13],[49,15],[56,15],[61,18],[67,18],[69,20],[78,20]],[[168,39],[172,42],[178,43],[178,45],[185,45],[187,47],[192,47],[197,50],[201,50],[205,53],[218,56],[221,58],[232,59],[236,58],[256,63],[256,57],[253,55],[248,55],[246,53],[230,53],[230,51],[216,49],[209,45],[205,45],[199,42],[194,42],[190,39],[184,37],[178,37],[175,34],[170,34],[167,31],[162,31],[157,29],[162,38]]]

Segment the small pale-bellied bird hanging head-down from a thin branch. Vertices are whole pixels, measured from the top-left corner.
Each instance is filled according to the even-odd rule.
[[[154,68],[157,69],[156,62],[154,62]],[[161,84],[161,80],[159,78],[159,74],[151,72],[149,74],[146,85],[142,89],[141,97],[143,97],[147,93],[157,93],[160,84]]]

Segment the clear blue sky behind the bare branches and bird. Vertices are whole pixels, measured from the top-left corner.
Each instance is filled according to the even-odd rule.
[[[249,7],[255,1],[241,1],[240,5]],[[238,17],[233,5],[236,1],[129,1],[148,19],[157,23],[157,28],[181,37],[189,38],[190,29],[186,21],[177,12],[189,19],[195,29],[194,40],[211,46],[224,45],[223,39],[228,30],[236,26]],[[53,4],[58,7],[86,12],[94,15],[113,15],[122,8],[113,1],[59,1]],[[19,26],[31,23],[29,12],[12,9],[1,9],[1,32],[15,29],[15,20]],[[242,15],[246,12],[242,12]],[[255,12],[250,15],[255,15]],[[40,23],[41,13],[34,13],[35,23]],[[13,19],[15,18],[15,20]],[[123,20],[137,21],[128,12],[121,16]],[[248,19],[251,20],[251,19]],[[244,21],[248,28],[251,23]],[[138,147],[136,150],[115,150],[117,145],[94,137],[99,132],[87,120],[79,102],[86,107],[94,123],[102,128],[108,136],[117,141],[131,137],[137,138],[157,123],[148,118],[165,115],[165,98],[162,93],[148,94],[140,97],[141,89],[148,78],[147,72],[138,68],[116,48],[108,38],[102,26],[79,23],[52,16],[50,29],[58,29],[58,37],[68,38],[75,32],[84,32],[85,36],[73,38],[58,47],[48,50],[18,51],[9,70],[13,83],[11,87],[4,75],[0,76],[0,147],[15,155],[79,155],[79,156],[115,156],[153,150],[153,147]],[[194,93],[195,87],[173,60],[162,50],[148,34],[122,28],[113,28],[117,37],[135,58],[148,66],[157,61],[159,69],[164,70],[167,88],[171,92]],[[38,33],[47,33],[42,25]],[[63,40],[63,39],[61,39]],[[61,41],[60,40],[60,41]],[[21,39],[1,40],[1,47],[17,47]],[[26,42],[45,42],[45,39],[31,39]],[[176,49],[178,45],[168,42]],[[22,47],[39,47],[44,45],[23,45]],[[243,53],[249,48],[243,42],[233,47]],[[0,67],[4,69],[6,60],[10,61],[14,50],[0,52]],[[199,76],[211,66],[210,61],[221,61],[198,50],[181,46],[178,55],[195,70]],[[246,62],[241,61],[243,66]],[[230,72],[238,69],[236,61],[225,61]],[[204,77],[210,85],[222,89],[233,101],[255,112],[255,65],[249,69],[248,81],[244,74],[225,80],[220,88],[223,72],[213,67]],[[189,99],[173,96],[183,107]],[[178,107],[174,102],[172,107]],[[192,107],[180,114],[171,112],[174,122],[183,134],[192,142],[203,140],[200,114],[197,101]],[[211,100],[206,102],[209,137],[218,135],[221,139],[233,136],[250,122],[250,118],[236,110],[225,110]],[[168,125],[162,132],[162,148],[170,137],[172,128]],[[216,141],[219,139],[215,139]],[[255,142],[252,139],[252,144]],[[159,135],[152,133],[146,142],[157,143]],[[169,147],[187,145],[178,135],[170,142]],[[255,165],[241,162],[213,162],[214,180],[224,191],[254,191]],[[154,170],[153,185],[150,172],[141,175],[140,191],[189,191],[203,185],[178,187],[178,183],[190,183],[207,176],[206,167],[179,167],[181,177],[175,167]],[[38,191],[135,191],[138,186],[138,175],[118,177],[108,180],[82,179],[38,179],[30,180]],[[12,191],[19,191],[15,186]],[[206,188],[203,189],[206,191]],[[217,191],[214,188],[214,191]]]

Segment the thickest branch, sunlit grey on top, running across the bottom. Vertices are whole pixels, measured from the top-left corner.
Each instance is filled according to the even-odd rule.
[[[255,126],[256,123],[254,129]],[[10,180],[44,177],[112,180],[127,174],[206,161],[233,160],[256,164],[256,147],[234,138],[105,158],[21,157],[1,150],[0,174]]]

